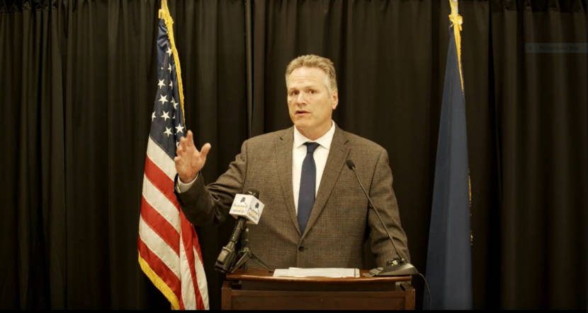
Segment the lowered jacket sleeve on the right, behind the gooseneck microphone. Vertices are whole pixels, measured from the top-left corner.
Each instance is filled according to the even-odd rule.
[[[396,194],[392,189],[392,170],[388,165],[388,153],[385,149],[382,149],[380,155],[378,155],[369,193],[374,206],[378,208],[380,216],[384,220],[390,235],[392,235],[398,252],[406,261],[410,261],[407,236],[400,223],[400,211],[396,201]],[[383,266],[387,261],[395,259],[397,256],[388,234],[383,229],[382,223],[380,223],[373,209],[368,211],[368,225],[371,237],[371,251],[378,266]]]

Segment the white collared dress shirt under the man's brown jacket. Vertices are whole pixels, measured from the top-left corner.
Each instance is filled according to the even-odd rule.
[[[315,196],[319,191],[320,179],[322,172],[324,171],[324,165],[327,164],[327,157],[329,156],[329,149],[331,148],[331,142],[335,134],[335,122],[331,121],[331,129],[326,134],[318,138],[315,141],[306,138],[300,131],[294,126],[294,143],[292,146],[292,191],[294,194],[294,207],[296,208],[296,214],[298,214],[298,193],[300,192],[300,174],[303,169],[303,161],[306,158],[306,146],[304,143],[311,141],[318,143],[319,146],[312,157],[315,159],[315,166],[317,167],[317,184],[315,189]]]

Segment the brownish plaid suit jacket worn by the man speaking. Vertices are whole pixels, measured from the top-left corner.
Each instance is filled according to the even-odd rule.
[[[368,238],[376,264],[384,266],[396,254],[354,173],[346,166],[346,160],[351,159],[396,247],[409,261],[388,153],[338,126],[307,228],[300,233],[292,191],[293,134],[290,127],[244,141],[227,172],[212,184],[205,186],[200,173],[191,189],[178,194],[186,218],[194,225],[221,223],[234,195],[255,188],[265,207],[259,224],[249,225],[249,248],[269,266],[364,268],[363,243]],[[247,266],[261,268],[251,260]]]

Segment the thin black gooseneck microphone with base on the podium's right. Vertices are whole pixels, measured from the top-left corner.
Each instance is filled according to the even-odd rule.
[[[392,239],[392,235],[390,235],[390,232],[388,232],[388,228],[386,227],[384,220],[380,216],[380,213],[378,212],[378,208],[375,208],[370,195],[368,194],[366,189],[363,188],[363,184],[361,184],[361,180],[359,179],[359,176],[357,175],[357,172],[355,171],[354,161],[347,159],[345,161],[345,163],[347,164],[347,167],[349,167],[349,170],[354,172],[355,177],[357,179],[357,182],[359,183],[359,186],[361,187],[361,190],[363,191],[363,194],[365,194],[366,197],[368,198],[370,206],[373,208],[373,211],[375,211],[375,215],[378,216],[378,220],[380,220],[380,223],[382,223],[382,227],[386,231],[386,234],[388,234],[388,238],[390,239],[390,242],[392,242],[392,247],[394,247],[394,252],[397,255],[397,258],[386,262],[386,266],[373,268],[370,271],[370,273],[367,274],[367,276],[405,276],[405,275],[412,275],[412,274],[420,274],[419,271],[417,271],[416,267],[414,267],[412,264],[409,264],[404,258],[402,258],[402,256],[400,256],[400,253],[398,253],[398,249],[396,248],[396,244],[394,244],[394,240]]]

